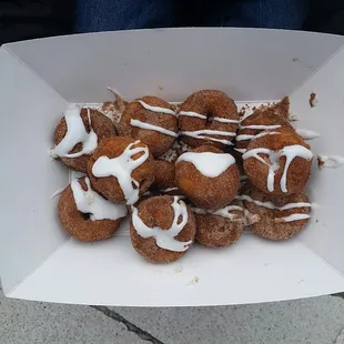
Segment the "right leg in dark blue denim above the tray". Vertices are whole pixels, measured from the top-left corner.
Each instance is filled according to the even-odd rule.
[[[302,29],[310,0],[213,1],[204,8],[205,24],[270,29]],[[211,13],[211,14],[209,14]]]

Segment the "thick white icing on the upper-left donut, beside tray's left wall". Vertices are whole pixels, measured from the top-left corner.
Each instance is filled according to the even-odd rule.
[[[54,148],[54,154],[61,158],[78,158],[93,153],[98,145],[98,136],[91,125],[90,109],[88,109],[89,124],[91,131],[88,133],[81,118],[81,108],[71,105],[64,113],[67,133],[62,141]],[[82,150],[77,153],[69,152],[78,144],[82,143]]]

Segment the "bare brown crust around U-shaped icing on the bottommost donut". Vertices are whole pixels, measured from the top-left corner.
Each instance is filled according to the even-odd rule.
[[[138,206],[139,216],[149,227],[158,226],[161,230],[169,230],[174,219],[174,212],[171,206],[172,196],[155,196],[141,202]],[[195,235],[195,220],[191,209],[188,208],[188,223],[183,230],[175,236],[181,242],[193,241]],[[132,221],[130,224],[130,236],[134,250],[145,260],[152,263],[174,262],[186,252],[174,252],[161,249],[156,245],[154,237],[142,237],[134,229]]]

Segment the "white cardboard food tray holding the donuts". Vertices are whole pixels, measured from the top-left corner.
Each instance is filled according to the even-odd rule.
[[[80,243],[61,229],[68,170],[49,156],[69,103],[155,94],[181,101],[221,89],[239,104],[290,95],[296,128],[321,133],[314,154],[344,155],[344,38],[251,29],[92,33],[0,49],[0,274],[7,296],[75,304],[199,306],[280,301],[344,291],[344,169],[314,161],[312,219],[296,237],[244,234],[154,265],[122,235]],[[316,105],[310,107],[310,94]]]

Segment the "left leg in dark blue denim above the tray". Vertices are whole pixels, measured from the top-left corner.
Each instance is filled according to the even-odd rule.
[[[173,0],[77,0],[75,32],[171,27]]]

